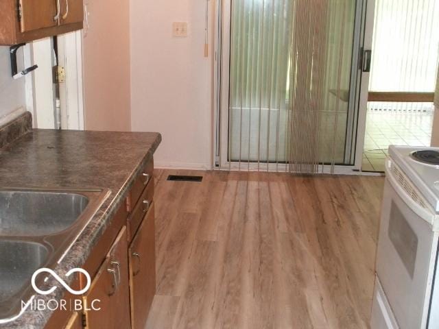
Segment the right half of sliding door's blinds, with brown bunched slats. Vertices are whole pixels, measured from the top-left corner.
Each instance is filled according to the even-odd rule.
[[[344,162],[355,1],[296,1],[289,170]]]

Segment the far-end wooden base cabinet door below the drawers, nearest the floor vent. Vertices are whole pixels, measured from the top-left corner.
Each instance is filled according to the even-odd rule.
[[[143,329],[156,293],[154,203],[132,240],[129,254],[132,328]]]

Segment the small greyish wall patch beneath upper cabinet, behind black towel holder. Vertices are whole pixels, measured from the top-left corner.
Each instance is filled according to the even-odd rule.
[[[23,69],[23,49],[19,49],[19,70]],[[25,107],[25,79],[12,79],[9,47],[0,47],[0,118]]]

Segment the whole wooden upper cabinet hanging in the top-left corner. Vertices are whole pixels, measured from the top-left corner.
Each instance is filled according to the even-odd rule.
[[[0,13],[0,45],[82,29],[84,17],[83,0],[1,0]]]

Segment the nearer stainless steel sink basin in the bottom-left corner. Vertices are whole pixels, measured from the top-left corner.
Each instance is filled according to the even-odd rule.
[[[0,240],[0,319],[20,303],[34,271],[47,263],[49,250],[41,243]]]

